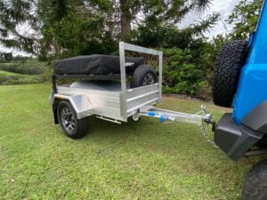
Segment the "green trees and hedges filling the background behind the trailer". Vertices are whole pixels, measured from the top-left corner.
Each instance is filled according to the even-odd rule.
[[[7,64],[1,64],[0,70],[28,75],[45,72],[40,81],[46,81],[53,60],[93,53],[116,54],[118,42],[124,40],[164,52],[164,92],[208,98],[217,53],[230,40],[248,39],[255,30],[263,0],[241,0],[229,16],[228,23],[234,28],[225,36],[205,35],[220,19],[218,13],[188,28],[179,28],[186,14],[205,12],[211,3],[211,0],[0,0],[0,42],[37,58],[25,61],[5,55],[0,62]],[[32,30],[26,35],[17,31],[23,23]],[[12,78],[8,77],[8,83],[31,83],[12,82]]]

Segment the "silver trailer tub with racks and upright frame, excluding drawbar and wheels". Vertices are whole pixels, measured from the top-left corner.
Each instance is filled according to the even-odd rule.
[[[125,51],[142,52],[158,56],[158,83],[138,88],[129,88],[126,83]],[[127,122],[144,106],[154,105],[161,100],[162,87],[162,57],[163,53],[136,46],[133,44],[119,44],[120,76],[90,76],[90,75],[58,75],[53,76],[53,93],[50,98],[56,119],[57,103],[69,100],[77,112],[77,118],[97,115],[102,119],[119,123]],[[77,77],[84,82],[71,85],[56,85],[58,78]],[[101,83],[100,80],[107,82]],[[116,82],[117,81],[117,82]],[[117,84],[120,82],[120,84]]]

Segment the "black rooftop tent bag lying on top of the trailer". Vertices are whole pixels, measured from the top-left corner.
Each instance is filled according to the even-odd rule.
[[[126,73],[134,73],[135,68],[144,64],[142,57],[126,57]],[[77,56],[54,62],[56,75],[118,75],[120,62],[118,56],[93,54]]]

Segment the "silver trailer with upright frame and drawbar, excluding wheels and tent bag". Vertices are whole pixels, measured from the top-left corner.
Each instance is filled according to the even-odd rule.
[[[127,88],[125,72],[125,51],[141,52],[158,56],[158,83],[137,88]],[[201,107],[197,114],[186,114],[172,110],[155,108],[153,105],[162,99],[162,68],[163,52],[144,48],[134,44],[119,43],[120,75],[60,75],[53,76],[53,92],[50,103],[53,106],[55,124],[57,120],[57,105],[60,100],[69,100],[77,113],[77,119],[96,115],[109,122],[121,124],[127,122],[129,116],[139,119],[141,116],[158,118],[161,123],[179,121],[201,125],[204,122],[213,124],[211,114],[206,114],[206,108]],[[120,80],[119,84],[100,85],[96,83],[75,83],[70,86],[57,85],[60,78],[80,78],[86,80]]]

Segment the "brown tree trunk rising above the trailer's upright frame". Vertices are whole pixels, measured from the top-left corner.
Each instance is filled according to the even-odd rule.
[[[129,8],[129,2],[131,0],[119,0],[120,10],[121,10],[121,19],[120,19],[120,26],[121,26],[121,39],[125,40],[126,36],[129,35],[131,32],[131,12]]]

